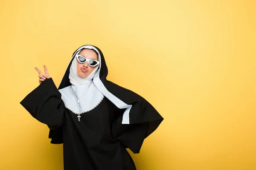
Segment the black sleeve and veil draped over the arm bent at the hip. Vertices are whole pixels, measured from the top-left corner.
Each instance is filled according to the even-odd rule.
[[[144,139],[157,129],[163,117],[143,97],[118,85],[112,83],[110,85],[115,89],[112,91],[115,96],[119,96],[119,99],[126,104],[132,105],[129,112],[129,124],[122,124],[125,109],[115,109],[111,129],[113,138],[133,153],[140,153]]]

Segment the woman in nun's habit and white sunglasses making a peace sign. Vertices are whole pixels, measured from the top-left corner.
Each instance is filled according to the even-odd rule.
[[[38,68],[40,85],[20,104],[63,143],[65,170],[136,170],[125,148],[139,153],[163,117],[143,97],[106,79],[102,52],[78,48],[58,89]]]

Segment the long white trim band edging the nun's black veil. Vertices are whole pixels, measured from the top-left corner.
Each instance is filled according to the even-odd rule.
[[[101,81],[101,79],[99,78],[99,73],[100,73],[100,69],[101,69],[101,56],[99,54],[99,51],[97,50],[97,48],[91,46],[91,45],[84,45],[81,46],[72,56],[71,60],[76,56],[76,54],[78,54],[81,49],[83,48],[87,48],[87,49],[93,49],[98,53],[98,58],[99,58],[99,69],[97,70],[94,78],[93,78],[93,84],[96,86],[97,89],[99,89],[99,91],[106,96],[114,105],[116,105],[116,107],[123,109],[126,108],[123,117],[122,117],[122,124],[130,124],[130,118],[129,118],[129,113],[131,110],[132,105],[127,105],[125,102],[123,102],[122,100],[120,100],[119,98],[117,98],[116,96],[114,96],[113,94],[111,94],[111,92],[108,91],[108,89],[104,86],[103,82]],[[62,77],[63,79],[63,77]],[[69,86],[71,87],[71,86]],[[68,87],[67,87],[68,88]],[[62,90],[62,89],[61,89]],[[61,91],[60,90],[60,91]],[[72,91],[71,91],[72,92]],[[88,91],[89,92],[89,91]],[[88,93],[87,92],[87,93]],[[65,102],[64,102],[65,103]],[[66,105],[66,104],[65,104]],[[66,106],[68,108],[68,106]],[[75,113],[75,112],[74,112]]]

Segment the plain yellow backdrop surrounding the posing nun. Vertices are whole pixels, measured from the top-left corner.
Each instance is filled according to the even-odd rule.
[[[62,170],[62,145],[19,104],[47,65],[98,46],[108,79],[165,118],[138,170],[256,170],[253,0],[1,0],[0,169]]]

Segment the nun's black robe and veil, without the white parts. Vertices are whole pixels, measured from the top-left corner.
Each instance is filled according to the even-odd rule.
[[[48,125],[51,143],[63,143],[65,170],[136,170],[125,148],[139,153],[144,139],[163,117],[143,97],[108,81],[103,54],[93,47],[101,57],[99,77],[105,88],[132,105],[129,124],[122,124],[125,109],[117,108],[107,97],[93,110],[82,113],[80,121],[77,114],[65,107],[58,89],[71,85],[68,75],[72,60],[58,89],[52,78],[44,80],[20,104],[35,119]]]

